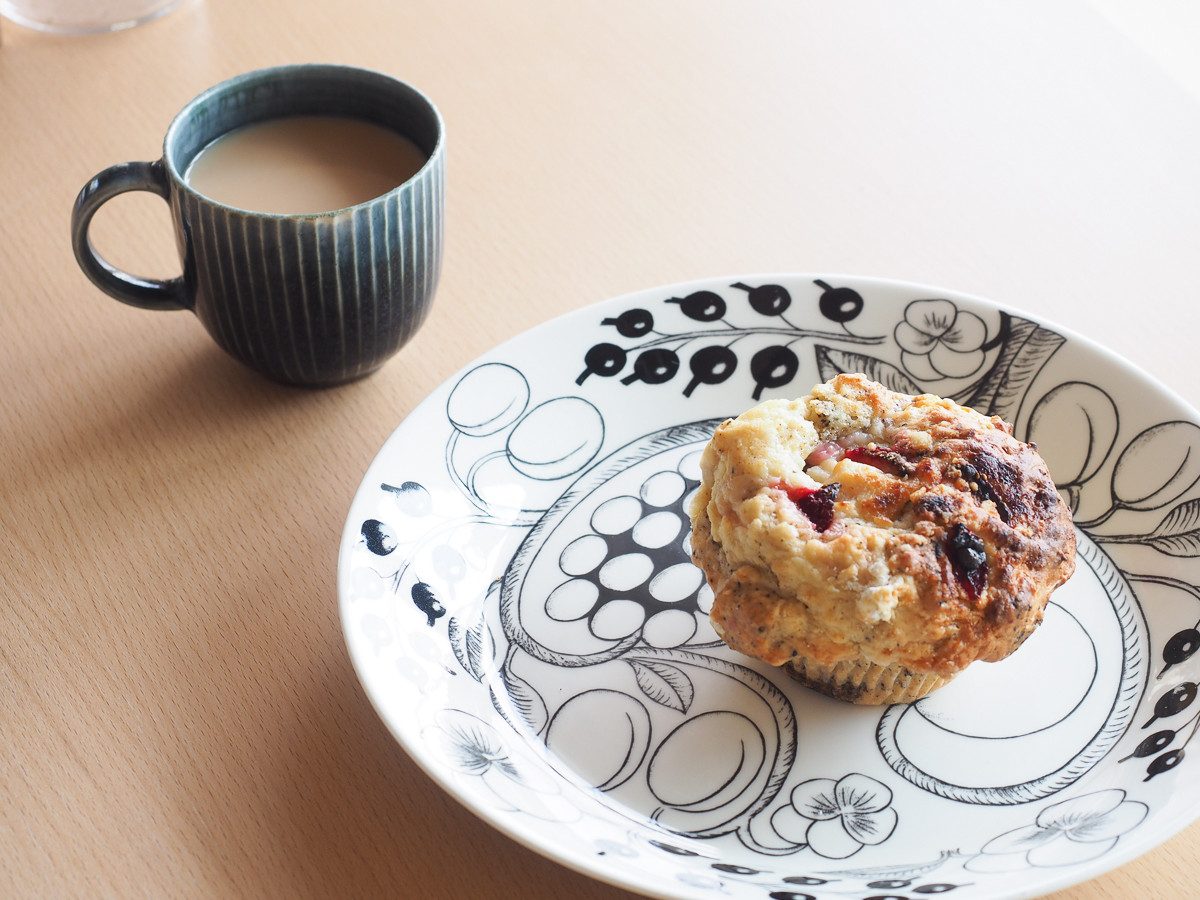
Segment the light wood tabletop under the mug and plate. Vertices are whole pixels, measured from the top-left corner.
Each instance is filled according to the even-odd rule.
[[[188,0],[0,44],[0,895],[631,896],[444,794],[350,667],[350,498],[451,372],[550,317],[708,275],[942,284],[1200,404],[1200,106],[1082,2]],[[392,73],[449,133],[425,329],[378,374],[268,383],[187,313],[100,294],[101,168],[262,66]],[[166,208],[97,244],[170,275]],[[1200,826],[1056,894],[1194,898]]]

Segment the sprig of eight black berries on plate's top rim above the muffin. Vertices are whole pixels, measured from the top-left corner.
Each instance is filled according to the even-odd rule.
[[[766,347],[758,346],[750,359],[750,374],[754,378],[751,396],[761,400],[763,390],[782,388],[796,378],[800,360],[792,344],[797,341],[823,337],[844,343],[883,343],[884,337],[859,337],[845,331],[845,323],[863,311],[864,301],[857,290],[834,287],[823,281],[815,283],[823,290],[817,301],[821,314],[829,322],[842,325],[842,331],[797,328],[784,318],[784,313],[793,305],[787,288],[781,284],[751,286],[739,281],[730,287],[745,292],[749,310],[739,302],[734,304],[734,312],[742,320],[745,320],[748,312],[751,313],[752,324],[739,325],[738,322],[731,322],[730,300],[715,290],[696,290],[686,296],[671,296],[662,301],[678,306],[688,319],[707,326],[702,330],[672,334],[664,331],[661,326],[655,328],[655,317],[649,310],[625,310],[619,316],[601,319],[600,324],[616,328],[620,337],[642,338],[642,342],[632,347],[608,341],[593,344],[583,355],[584,368],[575,383],[583,384],[589,376],[619,376],[632,358],[632,372],[620,378],[622,384],[665,384],[678,374],[679,354],[684,348],[706,341],[700,349],[692,352],[688,361],[691,378],[683,389],[683,395],[690,397],[701,385],[721,384],[737,372],[738,352],[734,344],[748,337],[769,336],[775,338],[774,342]],[[757,320],[754,317],[758,317]],[[719,343],[713,343],[714,338]],[[749,346],[743,347],[749,352]]]

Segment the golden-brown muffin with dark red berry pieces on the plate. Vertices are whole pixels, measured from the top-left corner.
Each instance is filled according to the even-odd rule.
[[[716,428],[692,559],[734,650],[839,700],[917,700],[1042,622],[1075,532],[1037,448],[953,401],[841,374]]]

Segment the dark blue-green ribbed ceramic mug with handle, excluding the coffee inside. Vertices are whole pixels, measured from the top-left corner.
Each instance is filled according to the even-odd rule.
[[[184,173],[234,128],[289,115],[382,125],[416,144],[425,166],[392,191],[316,215],[248,212],[193,191]],[[264,68],[210,88],[175,116],[157,162],[127,162],[79,192],[71,236],[80,268],[122,302],[191,310],[251,368],[306,386],[370,374],[428,314],[442,270],[445,137],[437,108],[389,76],[349,66]],[[170,205],[181,277],[140,278],[100,257],[96,210],[125,191]]]

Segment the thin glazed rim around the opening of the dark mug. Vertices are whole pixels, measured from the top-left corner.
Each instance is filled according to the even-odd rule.
[[[170,152],[170,146],[172,146],[172,142],[178,137],[179,130],[184,127],[184,122],[188,120],[188,118],[192,115],[192,113],[196,110],[197,107],[199,107],[199,106],[202,106],[202,104],[211,101],[214,97],[216,97],[216,96],[218,96],[221,94],[224,94],[224,92],[227,92],[227,91],[229,91],[229,90],[232,90],[234,88],[238,88],[238,86],[241,86],[241,85],[245,85],[245,84],[253,84],[254,82],[275,80],[275,79],[277,79],[280,77],[287,77],[288,74],[293,74],[293,73],[294,74],[300,74],[300,73],[304,73],[304,74],[330,73],[330,74],[332,74],[332,73],[337,73],[337,72],[343,72],[343,73],[344,72],[354,72],[354,73],[359,73],[359,74],[370,77],[370,78],[377,78],[380,82],[389,82],[392,85],[396,85],[396,86],[401,88],[402,90],[407,90],[407,91],[410,91],[412,94],[414,94],[427,107],[428,112],[432,113],[433,120],[437,122],[437,132],[438,132],[437,133],[437,140],[434,142],[433,149],[430,151],[428,157],[425,160],[425,163],[421,166],[421,168],[419,168],[415,173],[413,173],[408,179],[406,179],[401,184],[396,185],[394,188],[391,188],[386,193],[382,193],[378,197],[372,197],[370,200],[364,200],[362,203],[355,203],[355,204],[353,204],[350,206],[341,206],[338,209],[324,210],[322,212],[259,212],[258,210],[248,210],[248,209],[242,209],[241,206],[233,206],[233,205],[229,205],[227,203],[222,203],[221,200],[217,200],[217,199],[214,199],[212,197],[209,197],[206,193],[200,193],[199,191],[197,191],[196,188],[193,188],[191,185],[187,184],[187,180],[184,178],[184,173],[181,173],[179,170],[179,167],[175,164],[174,154]],[[334,113],[329,113],[328,115],[335,115],[335,114]],[[276,116],[276,118],[286,118],[286,116]],[[349,118],[356,118],[356,116],[349,116]],[[270,119],[263,119],[262,121],[270,121]],[[241,127],[241,126],[239,126],[239,127]],[[395,128],[390,128],[390,130],[395,131]],[[212,138],[212,140],[217,140],[220,137],[223,137],[228,132],[223,132],[218,137]],[[163,138],[163,142],[162,142],[162,161],[163,161],[163,166],[166,167],[167,172],[170,174],[172,180],[175,182],[175,186],[178,187],[178,190],[180,190],[180,191],[182,191],[182,192],[185,192],[187,194],[191,194],[192,197],[197,197],[197,198],[204,200],[205,203],[211,204],[214,206],[217,206],[217,208],[220,208],[222,210],[228,210],[230,212],[236,212],[236,214],[242,215],[242,216],[253,216],[254,218],[280,218],[280,220],[332,218],[335,216],[340,216],[340,215],[343,215],[346,212],[353,212],[355,210],[360,210],[362,208],[371,206],[372,204],[379,203],[380,200],[384,200],[384,199],[394,196],[398,191],[404,190],[409,185],[412,185],[415,181],[418,181],[419,179],[421,179],[434,164],[439,163],[440,160],[445,156],[445,133],[446,133],[445,132],[445,121],[442,119],[442,110],[439,110],[437,108],[437,106],[433,103],[433,101],[430,100],[428,96],[424,91],[421,91],[418,88],[414,88],[408,82],[401,80],[400,78],[396,78],[395,76],[390,76],[390,74],[388,74],[385,72],[380,72],[380,71],[374,70],[374,68],[364,68],[362,66],[346,66],[346,65],[338,65],[338,64],[334,64],[334,62],[295,62],[295,64],[290,64],[290,65],[286,65],[286,66],[269,66],[266,68],[256,68],[252,72],[242,72],[241,74],[234,76],[233,78],[227,78],[223,82],[214,84],[211,88],[208,88],[203,92],[200,92],[197,96],[192,97],[192,100],[190,100],[187,102],[187,104],[182,109],[179,110],[179,113],[175,115],[175,118],[172,119],[170,125],[167,128],[167,134],[166,134],[166,137]],[[206,142],[204,144],[204,146],[205,148],[209,146],[209,144],[211,144],[212,140]],[[197,156],[199,154],[197,152]],[[194,158],[196,158],[196,156],[193,156],[191,160],[188,160],[188,164],[191,164],[191,162],[193,162]]]

